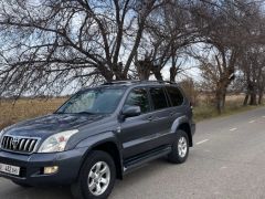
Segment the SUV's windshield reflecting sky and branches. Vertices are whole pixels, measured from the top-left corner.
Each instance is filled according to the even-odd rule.
[[[57,114],[109,114],[124,94],[124,88],[94,88],[75,94]]]

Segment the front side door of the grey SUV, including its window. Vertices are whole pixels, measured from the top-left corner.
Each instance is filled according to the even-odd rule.
[[[146,88],[130,91],[124,106],[139,106],[139,116],[128,117],[120,125],[119,139],[123,143],[124,158],[130,158],[152,149],[156,130],[152,128],[149,95]]]

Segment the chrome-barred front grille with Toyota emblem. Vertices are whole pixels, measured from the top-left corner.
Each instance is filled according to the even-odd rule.
[[[30,154],[34,151],[38,140],[38,138],[3,136],[1,149]]]

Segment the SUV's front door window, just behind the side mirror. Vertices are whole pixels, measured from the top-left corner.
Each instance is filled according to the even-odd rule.
[[[149,102],[148,102],[148,94],[145,88],[135,88],[132,90],[126,102],[125,106],[140,106],[141,113],[147,113],[150,111]]]

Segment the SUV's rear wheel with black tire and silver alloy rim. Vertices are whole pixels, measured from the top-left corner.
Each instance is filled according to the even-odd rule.
[[[182,164],[189,156],[189,137],[186,132],[177,130],[177,139],[172,145],[172,151],[168,159],[173,164]]]

